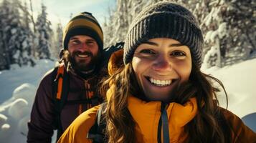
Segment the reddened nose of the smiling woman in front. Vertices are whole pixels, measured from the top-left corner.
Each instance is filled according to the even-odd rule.
[[[153,63],[152,69],[156,71],[171,71],[171,60],[167,56],[159,55]]]

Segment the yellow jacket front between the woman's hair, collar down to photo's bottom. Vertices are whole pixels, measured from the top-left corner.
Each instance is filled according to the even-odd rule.
[[[144,142],[157,142],[158,123],[161,117],[161,102],[144,102],[132,95],[128,97],[128,110],[136,122],[136,132]],[[169,121],[170,142],[183,142],[184,126],[196,116],[196,98],[186,104],[170,103],[166,109]],[[140,135],[141,134],[141,135]]]

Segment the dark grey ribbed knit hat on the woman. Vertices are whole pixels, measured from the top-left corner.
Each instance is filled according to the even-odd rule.
[[[192,60],[201,67],[203,36],[199,24],[188,9],[171,2],[153,4],[133,19],[125,39],[124,63],[133,59],[134,51],[143,41],[163,37],[189,46]]]

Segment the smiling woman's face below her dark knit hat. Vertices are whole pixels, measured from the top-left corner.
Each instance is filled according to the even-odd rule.
[[[132,60],[146,98],[163,102],[168,102],[179,85],[189,80],[191,64],[189,47],[169,38],[143,42]]]

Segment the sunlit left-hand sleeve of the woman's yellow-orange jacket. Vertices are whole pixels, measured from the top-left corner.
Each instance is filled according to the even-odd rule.
[[[92,143],[87,138],[87,133],[95,123],[95,118],[100,105],[88,109],[78,116],[62,134],[58,143]]]

